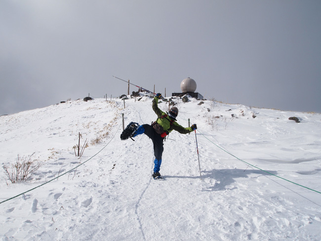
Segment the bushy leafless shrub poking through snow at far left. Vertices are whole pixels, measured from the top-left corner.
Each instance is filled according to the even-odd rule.
[[[17,183],[22,181],[27,181],[32,174],[37,171],[41,163],[38,160],[32,160],[32,155],[28,157],[20,157],[18,158],[14,164],[10,165],[3,165],[2,168],[4,169],[5,175],[11,181],[11,183]]]

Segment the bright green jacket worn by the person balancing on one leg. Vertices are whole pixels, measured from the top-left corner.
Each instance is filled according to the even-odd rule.
[[[187,134],[193,131],[191,127],[184,128],[183,126],[178,124],[176,120],[171,119],[165,112],[162,112],[158,107],[158,100],[159,98],[154,98],[152,107],[154,112],[158,116],[156,122],[164,128],[164,131],[171,132],[172,130],[176,130],[181,134]]]

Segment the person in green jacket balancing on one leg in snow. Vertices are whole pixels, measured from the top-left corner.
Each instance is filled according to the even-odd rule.
[[[157,115],[157,120],[154,121],[151,125],[143,124],[140,125],[136,132],[133,134],[133,137],[145,134],[152,139],[154,145],[154,178],[161,178],[160,169],[161,169],[161,156],[164,151],[163,140],[166,135],[168,135],[172,130],[176,130],[181,134],[187,134],[195,129],[197,125],[193,124],[191,127],[183,127],[176,122],[176,117],[178,115],[178,109],[172,107],[168,113],[165,113],[160,110],[158,107],[158,101],[161,98],[161,93],[158,93],[153,99],[152,108]]]

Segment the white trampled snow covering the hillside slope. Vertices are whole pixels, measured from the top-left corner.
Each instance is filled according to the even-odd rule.
[[[0,117],[1,166],[33,153],[42,162],[16,184],[1,168],[1,240],[320,241],[321,115],[189,99],[173,100],[178,123],[198,125],[202,179],[195,132],[168,136],[164,180],[151,177],[146,135],[120,140],[122,114],[125,125],[156,120],[150,97]]]

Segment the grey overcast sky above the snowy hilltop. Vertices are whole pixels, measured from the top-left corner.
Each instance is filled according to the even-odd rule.
[[[112,76],[321,113],[321,0],[0,0],[0,115],[127,93]]]

